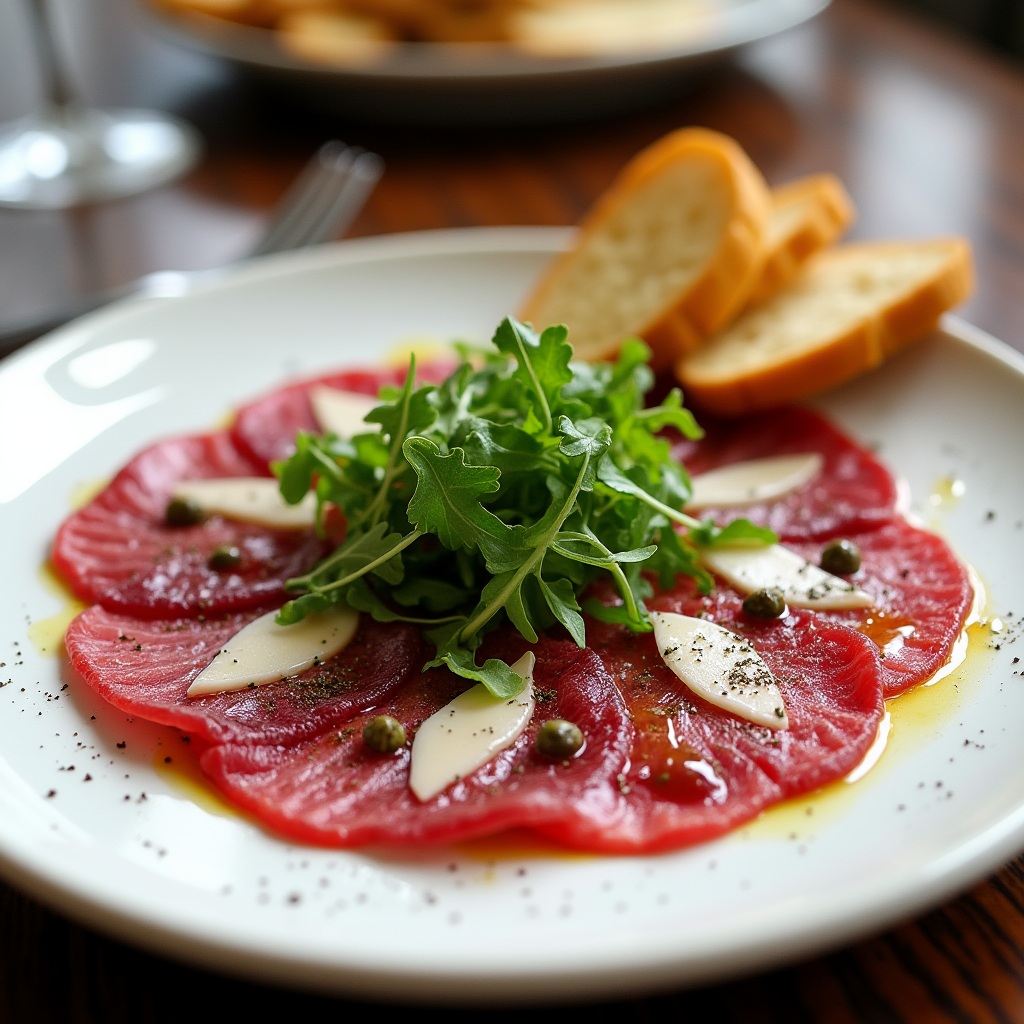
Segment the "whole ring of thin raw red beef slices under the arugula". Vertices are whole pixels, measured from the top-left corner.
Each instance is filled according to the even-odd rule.
[[[705,595],[689,577],[667,589],[651,581],[648,601],[749,643],[777,680],[785,729],[744,721],[688,688],[652,634],[590,616],[585,648],[561,627],[532,645],[508,625],[487,639],[486,656],[535,652],[532,718],[506,749],[426,800],[409,784],[412,741],[471,684],[444,668],[424,671],[432,647],[415,625],[364,613],[330,659],[258,687],[189,697],[223,645],[279,607],[286,580],[329,546],[312,529],[226,517],[169,527],[162,517],[174,483],[266,475],[297,430],[316,430],[314,384],[373,394],[400,383],[398,373],[359,371],[289,385],[245,407],[230,431],[156,444],[71,516],[55,542],[54,564],[94,602],[67,635],[79,679],[117,708],[195,735],[213,783],[276,833],[356,846],[526,827],[616,853],[705,841],[849,773],[876,738],[884,699],[941,668],[964,629],[973,598],[967,570],[939,538],[901,517],[888,470],[817,414],[786,410],[713,424],[702,440],[676,442],[674,456],[697,473],[819,453],[813,480],[743,514],[812,562],[829,539],[853,541],[862,561],[849,580],[873,606],[791,608],[766,621],[745,612],[742,595],[722,581]],[[210,552],[225,543],[244,551],[243,563],[211,570]],[[615,603],[606,587],[592,596]],[[390,753],[362,741],[364,726],[383,715],[407,737]],[[552,719],[579,728],[579,752],[539,752],[539,731]]]

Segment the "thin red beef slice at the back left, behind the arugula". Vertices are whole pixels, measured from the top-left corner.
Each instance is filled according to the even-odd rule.
[[[426,362],[417,368],[417,380],[440,383],[454,369],[446,360]],[[261,466],[285,459],[295,451],[295,435],[300,430],[319,432],[319,424],[309,403],[309,392],[316,386],[333,387],[376,397],[387,384],[400,386],[406,367],[346,370],[278,388],[262,398],[243,406],[231,427],[231,437],[239,449]],[[368,425],[367,429],[371,429]]]

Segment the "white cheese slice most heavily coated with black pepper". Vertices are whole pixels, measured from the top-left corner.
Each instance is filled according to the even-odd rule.
[[[749,640],[706,618],[650,618],[662,659],[694,693],[755,725],[790,727],[778,683]]]

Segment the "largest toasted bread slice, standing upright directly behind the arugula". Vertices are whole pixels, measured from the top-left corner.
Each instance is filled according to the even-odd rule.
[[[684,128],[635,157],[522,310],[565,324],[582,359],[639,335],[671,366],[741,308],[761,269],[771,196],[731,139]]]

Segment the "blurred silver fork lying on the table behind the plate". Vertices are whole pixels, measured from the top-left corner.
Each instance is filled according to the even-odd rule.
[[[325,142],[285,193],[245,258],[306,249],[341,234],[362,209],[383,172],[384,161],[377,154],[337,139]],[[209,270],[158,270],[121,288],[83,296],[55,313],[0,330],[0,356],[116,299],[184,295],[237,262]]]

